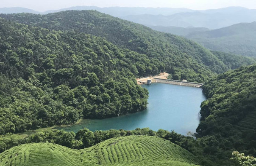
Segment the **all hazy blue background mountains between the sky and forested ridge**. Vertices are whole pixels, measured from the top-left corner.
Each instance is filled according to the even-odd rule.
[[[255,9],[228,7],[195,11],[187,8],[75,6],[45,12],[20,7],[0,8],[0,13],[47,14],[68,10],[96,10],[157,31],[184,36],[211,50],[256,57],[256,23],[251,23],[256,21]]]

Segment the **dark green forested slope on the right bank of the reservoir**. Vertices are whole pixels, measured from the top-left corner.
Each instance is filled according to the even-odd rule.
[[[212,78],[203,92],[197,133],[211,140],[205,152],[217,160],[228,160],[232,150],[256,156],[256,64]]]

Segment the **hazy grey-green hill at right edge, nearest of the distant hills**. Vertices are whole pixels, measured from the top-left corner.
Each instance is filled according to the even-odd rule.
[[[235,24],[207,32],[191,32],[186,37],[211,50],[256,57],[256,22]]]

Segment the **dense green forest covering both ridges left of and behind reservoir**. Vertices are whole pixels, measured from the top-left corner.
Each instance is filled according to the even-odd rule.
[[[220,61],[192,41],[96,11],[4,16],[41,20],[39,26],[56,30],[0,19],[0,134],[144,110],[148,92],[136,85],[138,77],[167,71],[173,79],[204,82],[217,72],[252,63],[238,56],[235,66],[224,64],[226,59]],[[95,25],[88,27],[89,22]],[[103,29],[109,33],[104,38],[117,46],[83,33],[101,36]],[[139,40],[121,46],[130,37]]]

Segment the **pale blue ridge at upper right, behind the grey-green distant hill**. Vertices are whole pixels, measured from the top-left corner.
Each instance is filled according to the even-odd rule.
[[[207,11],[193,11],[175,13],[170,16],[164,15],[131,15],[121,17],[146,26],[164,26],[164,27],[206,27],[209,29],[218,29],[228,27],[241,22],[256,21],[256,10],[247,8],[223,8]]]

